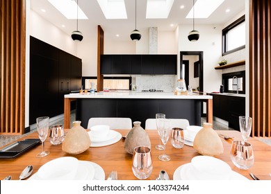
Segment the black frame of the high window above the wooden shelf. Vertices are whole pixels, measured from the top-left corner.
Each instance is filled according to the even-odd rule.
[[[230,51],[227,51],[227,37],[228,37],[227,35],[229,33],[229,30],[232,30],[233,28],[242,24],[243,22],[245,22],[245,15],[243,15],[239,19],[236,19],[236,21],[233,21],[233,23],[229,24],[229,26],[227,26],[226,28],[224,28],[222,30],[222,56],[228,55],[229,53],[234,53],[236,51],[239,51],[239,50],[245,48],[245,45],[243,45],[243,46],[239,46],[237,48],[234,48]]]

